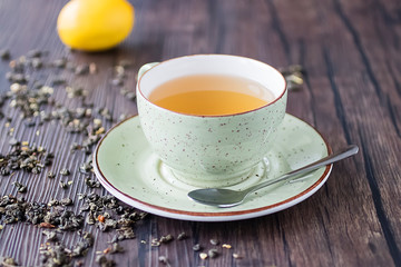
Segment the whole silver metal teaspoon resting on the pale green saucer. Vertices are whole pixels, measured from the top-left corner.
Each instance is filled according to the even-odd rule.
[[[309,174],[312,170],[322,168],[326,165],[333,164],[335,161],[342,160],[344,158],[351,157],[355,154],[358,154],[359,148],[358,146],[349,146],[348,148],[336,152],[332,154],[327,157],[324,157],[317,161],[314,161],[310,165],[306,165],[300,169],[290,171],[283,176],[280,176],[275,179],[271,179],[261,184],[257,184],[255,186],[252,186],[250,188],[246,188],[244,190],[231,190],[225,188],[205,188],[205,189],[196,189],[190,192],[188,192],[188,197],[197,202],[209,205],[209,206],[216,206],[219,208],[228,208],[234,207],[239,204],[242,204],[245,198],[251,194],[258,189],[262,189],[266,186],[271,186],[273,184],[276,184],[278,181],[288,180],[290,178],[294,178],[292,181],[295,181],[297,179],[302,179],[303,177],[300,177],[301,175]]]

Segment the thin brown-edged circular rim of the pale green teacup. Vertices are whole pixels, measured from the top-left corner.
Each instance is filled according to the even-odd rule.
[[[235,113],[228,113],[228,115],[192,115],[192,113],[184,113],[184,112],[178,112],[178,111],[174,111],[174,110],[170,110],[170,109],[166,109],[166,108],[163,108],[160,106],[157,106],[156,103],[151,102],[147,97],[145,97],[145,95],[143,93],[143,91],[140,90],[140,81],[141,79],[145,77],[145,75],[147,75],[151,69],[154,69],[155,67],[158,67],[163,63],[166,63],[168,61],[172,61],[172,60],[176,60],[176,59],[182,59],[182,58],[189,58],[189,57],[202,57],[202,56],[223,56],[223,57],[233,57],[233,58],[242,58],[242,59],[246,59],[246,60],[252,60],[252,61],[256,61],[256,62],[260,62],[260,63],[263,63],[263,65],[266,65],[268,66],[270,68],[272,68],[274,71],[277,72],[277,75],[283,78],[283,81],[284,81],[284,90],[283,92],[276,97],[273,101],[262,106],[262,107],[258,107],[258,108],[255,108],[255,109],[251,109],[251,110],[246,110],[246,111],[242,111],[242,112],[235,112]],[[140,93],[140,96],[150,105],[159,108],[159,109],[163,109],[163,110],[166,110],[166,111],[169,111],[169,112],[173,112],[173,113],[177,113],[177,115],[182,115],[182,116],[189,116],[189,117],[198,117],[198,118],[222,118],[222,117],[231,117],[231,116],[238,116],[238,115],[245,115],[245,113],[250,113],[250,112],[254,112],[256,110],[260,110],[260,109],[263,109],[263,108],[266,108],[268,106],[272,106],[274,105],[276,101],[278,101],[280,99],[283,98],[283,96],[285,95],[285,92],[287,91],[287,82],[284,78],[284,76],[276,69],[274,68],[273,66],[268,65],[268,63],[265,63],[261,60],[256,60],[256,59],[253,59],[253,58],[248,58],[248,57],[243,57],[243,56],[236,56],[236,55],[226,55],[226,53],[195,53],[195,55],[187,55],[187,56],[182,56],[182,57],[176,57],[176,58],[170,58],[170,59],[167,59],[167,60],[164,60],[162,62],[158,62],[156,66],[151,67],[150,69],[146,70],[138,79],[137,81],[137,90],[138,92]]]

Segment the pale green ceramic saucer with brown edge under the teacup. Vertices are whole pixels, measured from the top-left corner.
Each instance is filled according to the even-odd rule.
[[[274,147],[267,154],[267,175],[260,176],[256,171],[253,177],[229,188],[244,188],[277,177],[331,152],[322,136],[294,116],[286,113],[278,130]],[[101,185],[128,205],[164,217],[197,221],[247,219],[286,209],[317,191],[332,170],[330,165],[300,181],[284,181],[261,189],[236,207],[205,206],[190,200],[187,194],[196,188],[176,180],[153,154],[137,116],[116,125],[105,135],[96,148],[94,167]]]

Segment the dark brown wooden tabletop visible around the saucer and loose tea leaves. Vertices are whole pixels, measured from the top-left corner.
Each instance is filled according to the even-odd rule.
[[[401,1],[398,0],[144,0],[133,1],[136,24],[118,48],[101,53],[70,52],[56,32],[57,16],[67,1],[0,0],[0,49],[11,58],[31,49],[49,51],[48,59],[66,56],[71,62],[95,62],[92,76],[66,76],[71,85],[88,90],[88,100],[113,111],[110,128],[121,113],[135,115],[135,102],[110,85],[113,66],[133,61],[126,87],[134,91],[138,68],[192,53],[231,53],[265,61],[274,67],[302,65],[307,75],[302,90],[290,93],[287,111],[312,123],[333,150],[346,144],[360,146],[360,154],[334,166],[333,172],[315,195],[277,214],[232,222],[192,222],[149,216],[135,228],[137,238],[121,241],[124,254],[108,255],[118,266],[401,266]],[[9,90],[4,78],[8,61],[0,61],[0,92]],[[50,78],[45,80],[49,81]],[[55,98],[65,105],[62,89]],[[0,197],[17,194],[13,181],[28,186],[29,201],[71,197],[79,209],[77,194],[90,189],[78,172],[85,158],[69,147],[82,137],[48,122],[28,128],[20,112],[8,107],[0,119],[0,154],[10,150],[8,135],[37,142],[56,154],[50,167],[67,167],[74,184],[63,190],[59,176],[18,171],[0,177]],[[39,131],[39,135],[37,135]],[[107,194],[97,189],[98,194]],[[0,219],[1,224],[1,219]],[[113,235],[85,225],[96,241],[80,260],[94,266],[96,251],[109,245]],[[151,247],[163,235],[189,238]],[[42,229],[30,224],[4,225],[0,230],[0,256],[11,256],[21,266],[40,264]],[[67,246],[79,237],[60,235]],[[229,244],[214,259],[200,260],[194,244],[214,247],[211,238]],[[146,240],[147,244],[141,244]],[[243,256],[234,259],[233,253]],[[77,264],[78,260],[75,263]]]

